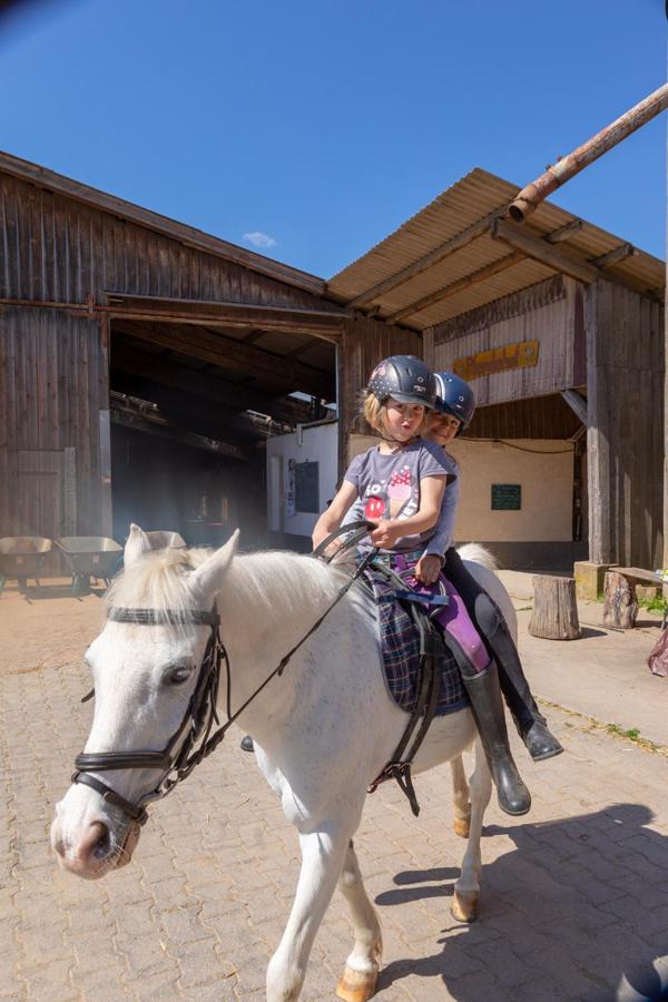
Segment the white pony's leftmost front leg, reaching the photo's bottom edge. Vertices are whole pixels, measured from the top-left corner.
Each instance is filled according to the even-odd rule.
[[[267,967],[267,1002],[298,999],[306,964],[332,900],[348,844],[346,832],[299,834],[302,868],[297,893],[276,953]]]

